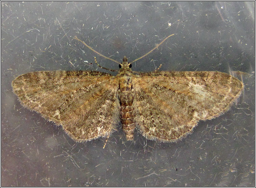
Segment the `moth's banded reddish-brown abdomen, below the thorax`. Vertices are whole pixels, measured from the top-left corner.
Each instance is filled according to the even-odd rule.
[[[127,140],[133,139],[133,132],[135,129],[135,123],[133,121],[132,116],[132,102],[134,95],[131,92],[119,92],[120,105],[121,105],[121,123],[122,128],[125,132],[125,136]]]

